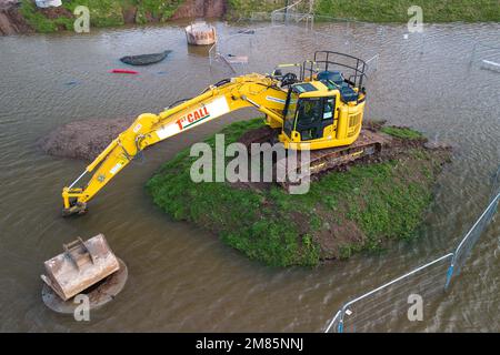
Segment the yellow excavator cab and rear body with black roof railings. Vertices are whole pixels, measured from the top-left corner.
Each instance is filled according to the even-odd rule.
[[[364,72],[362,60],[343,53],[316,52],[313,61],[306,61],[296,82],[284,82],[288,94],[279,139],[286,148],[308,143],[316,150],[356,141],[364,111]]]

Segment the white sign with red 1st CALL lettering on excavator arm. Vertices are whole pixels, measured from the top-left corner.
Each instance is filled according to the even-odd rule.
[[[206,105],[198,106],[196,110],[180,116],[174,122],[161,128],[157,131],[157,134],[160,140],[164,140],[166,138],[172,136],[194,125],[221,116],[229,111],[230,110],[226,98],[218,98]]]

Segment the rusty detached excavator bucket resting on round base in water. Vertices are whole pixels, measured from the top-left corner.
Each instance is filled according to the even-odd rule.
[[[44,262],[47,285],[63,301],[78,295],[120,268],[103,234],[64,244],[64,252]]]

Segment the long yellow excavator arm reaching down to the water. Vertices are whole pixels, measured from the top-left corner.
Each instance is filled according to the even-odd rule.
[[[254,106],[266,114],[271,128],[282,126],[286,97],[279,81],[254,73],[222,80],[159,114],[139,115],[70,186],[63,187],[63,215],[84,213],[87,203],[146,148],[229,112]],[[86,186],[78,187],[90,173],[93,175]]]

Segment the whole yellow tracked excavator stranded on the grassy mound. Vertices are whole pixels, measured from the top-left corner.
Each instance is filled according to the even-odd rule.
[[[282,74],[283,69],[292,71]],[[313,60],[278,65],[271,74],[226,79],[159,114],[141,114],[63,189],[63,215],[83,214],[87,203],[147,146],[243,108],[262,112],[274,141],[286,149],[311,150],[311,173],[373,154],[381,141],[361,130],[366,72],[359,58],[318,51]],[[91,172],[86,186],[78,187]]]

